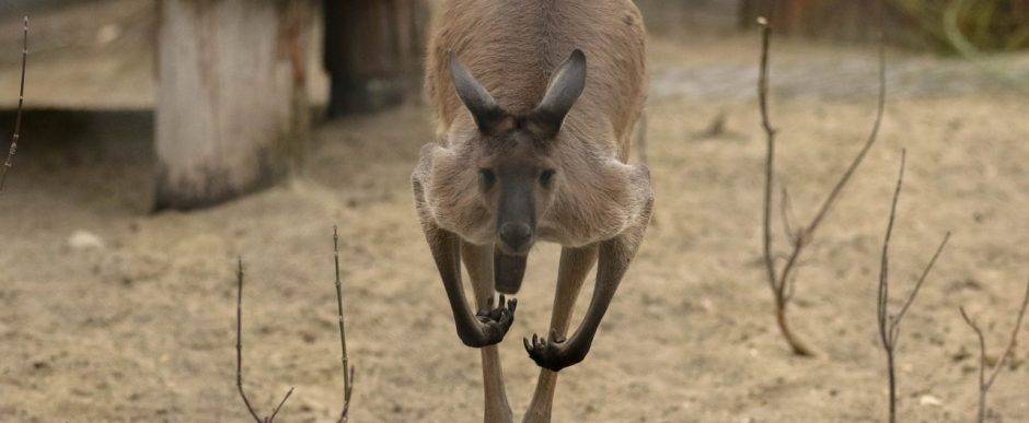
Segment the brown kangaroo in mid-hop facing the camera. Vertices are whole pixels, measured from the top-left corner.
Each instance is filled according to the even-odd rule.
[[[487,422],[512,420],[496,344],[517,302],[504,294],[518,293],[534,243],[562,245],[550,334],[523,340],[542,367],[525,421],[550,421],[557,372],[586,357],[650,220],[649,172],[626,164],[647,84],[643,19],[631,0],[447,0],[436,20],[426,90],[438,142],[412,176],[418,216],[458,337],[482,351]]]

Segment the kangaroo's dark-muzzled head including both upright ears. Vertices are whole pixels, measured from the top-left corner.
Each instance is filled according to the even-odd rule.
[[[586,85],[586,55],[575,50],[551,78],[540,104],[523,115],[504,110],[453,54],[450,71],[477,128],[463,158],[478,173],[482,207],[496,218],[497,247],[523,256],[535,242],[536,218],[562,180],[553,156],[565,116]]]

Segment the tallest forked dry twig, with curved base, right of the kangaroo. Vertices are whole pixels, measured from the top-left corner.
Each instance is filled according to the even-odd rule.
[[[843,193],[843,189],[846,187],[847,183],[851,181],[854,173],[857,171],[858,166],[860,166],[862,162],[865,161],[865,156],[868,154],[868,151],[879,138],[879,128],[882,124],[882,114],[886,108],[886,47],[883,43],[879,44],[879,101],[876,109],[876,120],[872,125],[871,133],[868,136],[868,139],[865,141],[862,150],[857,153],[857,156],[854,157],[854,160],[851,162],[851,165],[840,177],[839,181],[836,181],[836,185],[833,186],[832,190],[822,201],[821,207],[818,209],[818,213],[814,214],[814,218],[806,226],[796,228],[798,232],[795,232],[794,225],[789,223],[789,198],[786,187],[783,187],[782,220],[791,247],[791,251],[786,255],[786,261],[783,267],[779,268],[775,261],[776,255],[772,251],[772,192],[774,191],[775,186],[774,178],[776,137],[776,129],[772,126],[771,118],[768,117],[768,57],[772,28],[768,26],[768,22],[764,17],[759,17],[758,24],[761,27],[761,66],[758,79],[758,101],[761,107],[761,126],[764,129],[765,140],[767,143],[767,156],[765,158],[763,222],[764,236],[762,244],[764,252],[764,265],[767,272],[768,286],[772,289],[772,293],[775,296],[775,319],[778,324],[779,330],[783,332],[783,337],[786,339],[786,342],[789,344],[789,348],[795,354],[810,356],[814,355],[814,351],[808,348],[806,343],[800,341],[800,339],[794,334],[794,332],[789,329],[789,322],[786,319],[786,309],[789,306],[793,294],[796,292],[794,277],[796,275],[797,266],[799,265],[800,256],[803,252],[805,247],[807,247],[814,238],[814,233],[818,231],[819,225],[829,215],[832,207],[836,203],[836,201],[840,199],[840,196]]]

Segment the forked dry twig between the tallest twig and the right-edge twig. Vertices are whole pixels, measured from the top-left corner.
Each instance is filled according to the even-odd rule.
[[[900,175],[897,178],[897,189],[893,191],[893,202],[890,205],[890,220],[887,224],[886,236],[882,240],[882,258],[879,263],[879,295],[876,303],[879,339],[882,342],[883,351],[886,351],[887,375],[890,384],[890,423],[897,422],[897,373],[894,360],[897,356],[897,341],[900,339],[900,325],[907,314],[907,310],[911,308],[911,304],[914,303],[915,297],[918,295],[918,291],[922,289],[922,284],[925,283],[926,277],[928,277],[929,271],[932,271],[933,267],[936,265],[936,259],[939,258],[939,255],[944,251],[944,247],[947,246],[947,242],[950,240],[950,232],[948,232],[947,235],[944,236],[944,240],[939,244],[939,247],[936,248],[936,252],[933,255],[928,265],[925,266],[922,275],[918,277],[918,280],[915,282],[915,287],[907,294],[907,299],[904,301],[900,312],[895,315],[891,315],[889,312],[890,239],[893,236],[893,223],[897,220],[897,203],[900,200],[901,187],[904,185],[905,162],[906,152],[902,151]]]

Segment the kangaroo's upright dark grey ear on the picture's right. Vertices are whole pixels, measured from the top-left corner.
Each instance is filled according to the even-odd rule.
[[[585,87],[586,54],[576,49],[551,77],[543,101],[529,117],[536,134],[544,139],[557,136],[565,116],[568,116],[568,111],[571,110],[571,106],[575,106]]]

